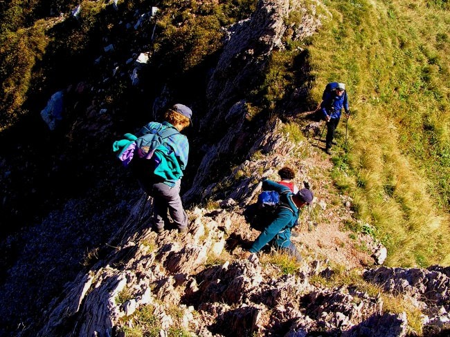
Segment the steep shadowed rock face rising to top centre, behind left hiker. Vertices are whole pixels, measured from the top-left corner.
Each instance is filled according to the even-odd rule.
[[[192,188],[183,195],[183,200],[189,202],[196,196],[206,196],[205,182],[209,173],[220,165],[220,158],[251,154],[249,150],[258,139],[254,139],[255,130],[246,131],[249,115],[246,97],[263,80],[271,52],[283,48],[287,28],[291,28],[292,38],[303,39],[320,26],[314,16],[314,6],[309,10],[311,14],[296,1],[262,0],[249,19],[228,30],[228,41],[208,82],[208,113],[201,119],[201,129],[208,130],[209,140],[215,144],[204,155]],[[286,19],[294,11],[300,12],[303,19],[289,25]]]

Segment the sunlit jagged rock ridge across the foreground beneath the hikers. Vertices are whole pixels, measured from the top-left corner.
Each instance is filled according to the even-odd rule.
[[[282,149],[294,144],[279,137],[265,146],[272,151],[263,160],[282,165]],[[244,166],[253,171],[260,161]],[[261,177],[272,174],[264,171]],[[116,249],[66,285],[38,336],[125,336],[145,307],[159,320],[159,336],[168,336],[173,327],[195,336],[410,335],[406,313],[384,311],[380,293],[402,293],[422,310],[428,331],[449,322],[448,267],[360,269],[362,278],[380,285],[373,295],[351,283],[330,287],[317,282],[317,277],[331,279],[334,271],[305,249],[305,261],[294,273],[264,260],[267,252],[241,260],[242,247],[256,233],[249,230],[238,201],[254,200],[259,184],[239,186],[232,193],[239,198],[220,202],[224,208],[189,211],[186,235],[150,231],[142,219],[151,202],[143,195],[111,242]],[[123,293],[127,298],[120,299]]]

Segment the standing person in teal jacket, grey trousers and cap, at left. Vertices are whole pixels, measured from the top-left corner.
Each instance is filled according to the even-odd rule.
[[[192,110],[188,106],[175,104],[165,113],[164,122],[150,122],[147,128],[159,131],[174,128],[181,131],[190,125],[191,117]],[[188,137],[179,132],[170,135],[164,139],[164,146],[155,151],[155,155],[159,159],[159,164],[154,172],[147,167],[137,168],[134,171],[142,189],[153,197],[152,228],[156,233],[161,233],[164,226],[168,225],[169,213],[175,227],[180,233],[184,233],[188,228],[188,215],[183,209],[179,193],[181,177],[188,164]]]

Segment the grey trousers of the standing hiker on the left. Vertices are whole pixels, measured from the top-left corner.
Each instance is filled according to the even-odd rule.
[[[188,226],[188,215],[183,209],[180,197],[181,180],[175,186],[170,187],[163,182],[153,184],[153,222],[156,231],[162,231],[164,224],[168,223],[168,212],[178,229],[186,229]]]

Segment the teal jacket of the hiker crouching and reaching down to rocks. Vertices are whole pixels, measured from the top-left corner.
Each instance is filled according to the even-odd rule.
[[[291,243],[291,228],[296,225],[299,215],[298,207],[292,201],[292,195],[294,194],[291,193],[289,187],[271,180],[264,180],[262,189],[264,191],[277,191],[278,193],[289,191],[285,195],[280,195],[281,202],[289,205],[289,207],[282,206],[278,209],[276,219],[253,242],[251,249],[249,249],[251,253],[258,253],[269,242],[278,247],[288,247]]]

